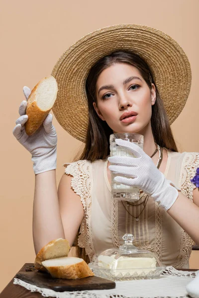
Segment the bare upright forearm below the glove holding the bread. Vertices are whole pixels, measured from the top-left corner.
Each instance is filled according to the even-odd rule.
[[[59,210],[55,170],[35,175],[32,228],[36,254],[49,241],[65,238]]]

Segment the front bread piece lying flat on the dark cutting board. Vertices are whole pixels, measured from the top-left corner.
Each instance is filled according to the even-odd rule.
[[[43,261],[42,265],[53,278],[78,279],[94,276],[88,264],[81,258],[62,257]]]

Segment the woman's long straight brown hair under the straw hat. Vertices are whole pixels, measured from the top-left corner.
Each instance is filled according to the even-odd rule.
[[[96,84],[99,75],[103,70],[115,63],[126,63],[138,69],[143,79],[151,90],[151,83],[156,87],[156,101],[152,105],[151,128],[154,142],[160,147],[178,152],[169,119],[160,97],[158,88],[152,76],[152,72],[148,64],[137,54],[128,51],[115,51],[102,57],[90,70],[86,80],[86,93],[88,98],[89,123],[87,129],[86,144],[83,152],[78,152],[73,161],[87,159],[95,161],[97,159],[105,159],[110,153],[109,137],[113,133],[112,129],[105,121],[102,121],[96,113],[93,102],[97,103]],[[77,238],[76,238],[77,240]],[[77,242],[76,242],[77,243]],[[78,255],[84,257],[85,250],[78,247]],[[88,259],[86,258],[86,261]]]

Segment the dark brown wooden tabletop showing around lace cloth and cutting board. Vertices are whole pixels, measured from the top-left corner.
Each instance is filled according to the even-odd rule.
[[[26,266],[33,266],[33,263],[25,263],[23,267],[19,271],[25,271]],[[179,269],[184,271],[197,271],[198,269]],[[24,287],[21,287],[19,285],[14,285],[15,276],[13,279],[9,282],[9,284],[4,288],[4,290],[0,293],[0,298],[35,298],[40,297],[43,298],[43,296],[38,292],[31,293],[29,290],[25,289]]]

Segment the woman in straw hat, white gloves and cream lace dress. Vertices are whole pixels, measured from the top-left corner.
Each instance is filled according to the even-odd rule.
[[[57,193],[52,115],[28,137],[26,102],[21,103],[13,134],[34,162],[35,252],[58,237],[72,245],[80,228],[78,246],[86,251],[87,261],[94,261],[130,232],[135,245],[156,253],[163,264],[188,268],[193,240],[199,243],[199,192],[190,182],[199,153],[179,153],[170,128],[191,86],[183,50],[154,28],[110,26],[70,47],[52,75],[59,88],[53,112],[63,128],[86,145],[76,161],[65,164]],[[26,97],[29,92],[24,88]],[[132,111],[136,117],[122,122],[123,113]],[[143,150],[117,141],[139,158],[108,157],[114,132],[144,136]],[[111,199],[110,170],[117,181],[142,190],[139,202]]]

